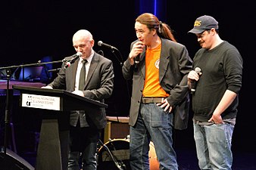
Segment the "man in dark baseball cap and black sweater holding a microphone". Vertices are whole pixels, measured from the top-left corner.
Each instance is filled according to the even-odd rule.
[[[235,46],[219,36],[214,17],[195,20],[189,31],[201,49],[193,58],[188,84],[193,89],[195,147],[201,169],[232,169],[231,142],[242,87],[242,57]],[[198,67],[195,71],[195,68]]]

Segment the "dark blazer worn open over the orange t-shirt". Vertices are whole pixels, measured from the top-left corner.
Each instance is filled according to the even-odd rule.
[[[135,42],[131,44],[131,49]],[[192,70],[192,60],[184,45],[168,39],[161,39],[161,42],[159,82],[161,87],[164,88],[164,91],[170,94],[167,100],[170,106],[173,107],[174,128],[184,129],[187,128],[189,119],[189,87],[187,85],[187,75]],[[138,117],[144,87],[145,51],[142,52],[137,71],[134,71],[134,65],[131,66],[128,59],[124,62],[122,71],[125,79],[133,79],[129,119],[129,124],[133,126]]]

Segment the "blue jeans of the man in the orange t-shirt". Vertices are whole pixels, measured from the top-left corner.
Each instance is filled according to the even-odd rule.
[[[155,145],[160,169],[177,170],[173,150],[173,114],[156,104],[141,104],[136,125],[130,127],[130,165],[133,170],[149,170],[150,141]]]

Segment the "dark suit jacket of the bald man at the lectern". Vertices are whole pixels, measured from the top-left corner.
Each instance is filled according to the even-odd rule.
[[[70,59],[69,57],[65,59]],[[64,64],[61,66],[61,70],[58,76],[54,79],[52,83],[49,84],[52,88],[64,89],[67,91],[74,91],[75,79],[76,79],[76,69],[78,66],[78,61],[76,60],[67,69],[64,68]],[[113,63],[108,58],[101,56],[100,54],[94,53],[92,57],[92,62],[89,67],[88,75],[86,78],[86,84],[83,90],[85,97],[89,97],[93,100],[98,100],[104,103],[104,99],[111,97],[114,89],[114,68]],[[100,107],[97,109],[85,110],[86,115],[92,121],[93,125],[98,129],[105,128],[107,124],[105,108]],[[70,120],[78,119],[80,116],[77,113],[70,113]],[[86,121],[86,119],[82,119]],[[70,122],[71,123],[71,122]],[[76,125],[76,122],[72,122]]]

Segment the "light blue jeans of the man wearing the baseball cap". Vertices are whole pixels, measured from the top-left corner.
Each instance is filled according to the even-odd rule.
[[[232,169],[231,141],[234,125],[197,125],[194,122],[193,126],[199,168]]]

